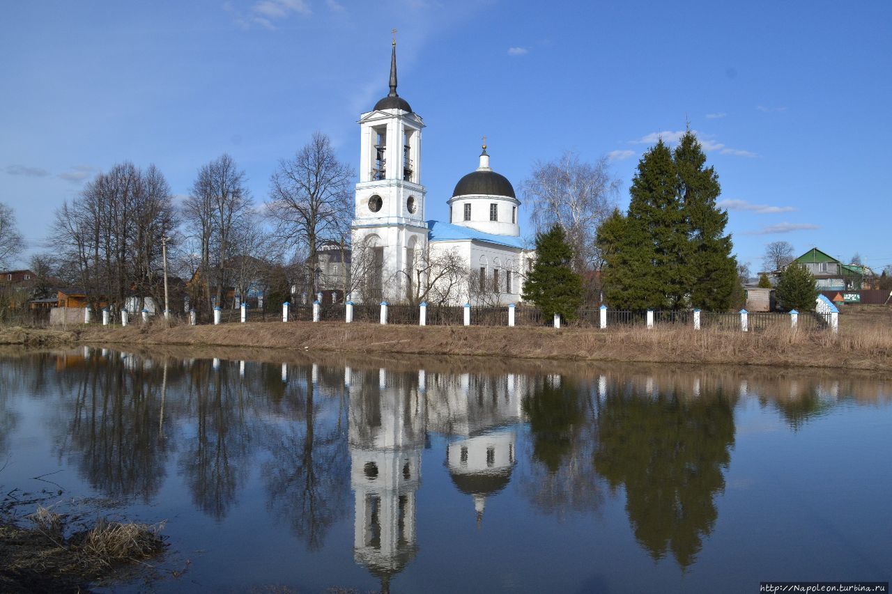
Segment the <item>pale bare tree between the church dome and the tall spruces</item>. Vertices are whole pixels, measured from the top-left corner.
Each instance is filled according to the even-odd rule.
[[[618,190],[619,180],[611,175],[606,157],[587,163],[571,151],[557,161],[537,161],[523,183],[536,232],[555,224],[563,227],[574,249],[576,272],[598,268],[595,235],[614,209]]]

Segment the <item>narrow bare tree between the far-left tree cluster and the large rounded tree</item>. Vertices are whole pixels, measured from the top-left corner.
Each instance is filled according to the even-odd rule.
[[[235,228],[251,209],[251,194],[245,187],[244,171],[238,169],[228,154],[202,165],[192,192],[183,204],[187,227],[199,247],[199,268],[202,296],[211,307],[211,283],[214,302],[223,302],[229,279],[227,260],[239,252],[234,243]],[[198,295],[193,295],[198,297]]]

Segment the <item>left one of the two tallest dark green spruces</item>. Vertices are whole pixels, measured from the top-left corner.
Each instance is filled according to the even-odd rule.
[[[648,259],[639,286],[651,309],[678,309],[690,291],[688,225],[678,192],[672,152],[660,139],[638,163],[629,190],[627,229],[640,242],[635,260]]]

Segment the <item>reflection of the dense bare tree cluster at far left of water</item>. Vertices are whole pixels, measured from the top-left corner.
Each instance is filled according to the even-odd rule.
[[[158,433],[161,375],[115,357],[89,359],[78,374],[70,417],[59,428],[59,452],[107,497],[148,501],[166,474],[168,445]]]

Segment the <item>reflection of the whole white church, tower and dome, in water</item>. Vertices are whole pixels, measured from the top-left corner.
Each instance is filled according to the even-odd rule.
[[[458,491],[474,500],[478,525],[487,496],[508,485],[526,378],[354,372],[350,393],[353,555],[386,591],[417,551],[416,492],[428,430],[457,436],[446,464]]]

